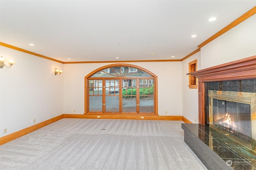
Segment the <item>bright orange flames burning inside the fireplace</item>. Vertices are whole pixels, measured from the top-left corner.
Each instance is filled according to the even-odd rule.
[[[224,127],[224,130],[230,133],[237,131],[235,123],[230,119],[230,114],[226,113],[222,118],[218,119],[218,124]]]

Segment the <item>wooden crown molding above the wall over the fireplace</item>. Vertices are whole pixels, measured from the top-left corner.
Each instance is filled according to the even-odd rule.
[[[209,42],[211,42],[212,40],[218,38],[219,36],[221,36],[225,32],[231,30],[232,28],[234,28],[235,26],[237,26],[238,24],[240,24],[244,20],[247,20],[248,18],[250,18],[254,14],[256,14],[256,6],[254,6],[252,9],[250,9],[248,12],[246,12],[245,14],[243,14],[242,16],[240,16],[239,18],[237,18],[236,20],[234,20],[230,24],[228,24],[228,26],[224,27],[222,30],[220,30],[219,32],[217,32],[216,34],[214,34],[213,36],[211,36],[207,40],[202,42],[200,45],[198,45],[198,47],[202,48],[204,45],[206,45]]]

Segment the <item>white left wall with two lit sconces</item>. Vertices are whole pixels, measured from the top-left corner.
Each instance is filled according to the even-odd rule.
[[[62,63],[3,46],[0,56],[16,60],[11,68],[0,69],[0,136],[63,114],[63,75],[54,75]]]

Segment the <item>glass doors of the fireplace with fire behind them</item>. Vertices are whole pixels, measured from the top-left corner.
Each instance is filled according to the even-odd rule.
[[[252,141],[250,105],[212,100],[212,124],[245,142]]]

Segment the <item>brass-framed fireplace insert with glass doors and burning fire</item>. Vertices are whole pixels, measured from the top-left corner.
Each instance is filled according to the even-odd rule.
[[[209,90],[209,124],[254,150],[256,93]]]

